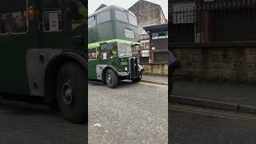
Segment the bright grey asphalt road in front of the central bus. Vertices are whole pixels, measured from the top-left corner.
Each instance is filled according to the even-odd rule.
[[[122,82],[89,84],[89,142],[167,143],[167,86]]]

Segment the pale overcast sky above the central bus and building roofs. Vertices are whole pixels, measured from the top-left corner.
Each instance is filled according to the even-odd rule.
[[[162,11],[168,19],[168,0],[146,0],[148,2],[157,3],[162,7]],[[102,3],[105,5],[121,6],[125,9],[129,9],[138,0],[88,0],[89,14],[93,13]]]

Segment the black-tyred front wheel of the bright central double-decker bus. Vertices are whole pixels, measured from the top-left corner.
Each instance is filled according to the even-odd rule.
[[[118,75],[115,73],[114,70],[112,69],[106,70],[105,78],[106,78],[105,79],[106,86],[109,86],[112,89],[118,86]]]

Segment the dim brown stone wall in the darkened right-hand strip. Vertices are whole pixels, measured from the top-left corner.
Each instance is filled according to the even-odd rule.
[[[178,78],[221,82],[256,82],[256,47],[175,48]]]

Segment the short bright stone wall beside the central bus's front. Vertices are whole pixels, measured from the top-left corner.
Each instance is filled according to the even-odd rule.
[[[149,63],[149,64],[141,64],[141,65],[145,69],[144,74],[168,75],[168,64]]]

